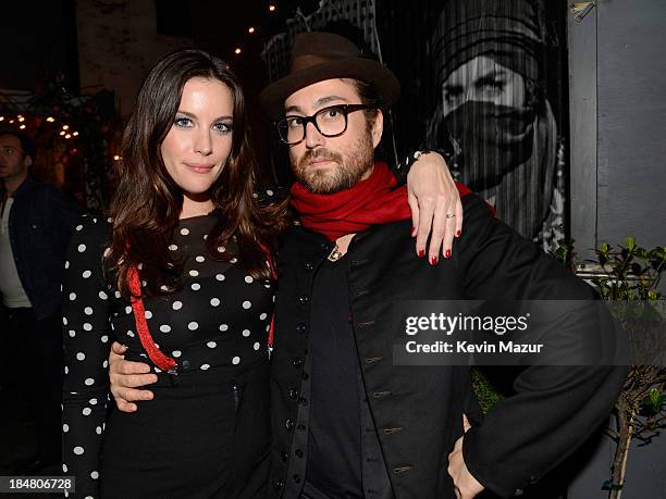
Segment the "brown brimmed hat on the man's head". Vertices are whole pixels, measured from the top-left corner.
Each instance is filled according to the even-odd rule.
[[[351,41],[332,33],[308,32],[294,37],[288,74],[263,89],[261,105],[271,120],[280,117],[284,101],[297,90],[332,78],[355,78],[372,85],[390,107],[400,95],[400,84],[386,67],[363,58]]]

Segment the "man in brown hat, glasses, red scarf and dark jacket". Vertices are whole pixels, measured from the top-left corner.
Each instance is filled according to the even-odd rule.
[[[406,300],[592,296],[472,195],[454,254],[434,270],[414,254],[404,194],[373,158],[381,108],[398,93],[350,41],[307,33],[261,96],[289,146],[300,219],[278,261],[271,497],[519,495],[608,414],[624,379],[624,369],[529,367],[519,395],[464,436],[478,420],[468,367],[392,362],[405,335],[392,312]]]

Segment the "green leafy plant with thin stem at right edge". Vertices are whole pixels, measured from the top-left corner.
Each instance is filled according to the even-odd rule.
[[[609,490],[610,499],[619,499],[631,440],[650,444],[666,427],[666,367],[661,359],[666,351],[666,302],[657,291],[666,270],[666,249],[657,246],[646,250],[638,246],[633,237],[627,237],[625,246],[603,244],[594,252],[595,269],[592,273],[583,271],[580,274],[588,277],[604,300],[618,304],[612,311],[627,332],[631,358],[646,360],[641,365],[629,367],[615,404],[617,427],[610,432],[610,436],[617,442],[617,449],[610,479],[602,488]],[[574,241],[559,241],[555,258],[568,269],[574,269]],[[584,269],[584,264],[578,269]]]

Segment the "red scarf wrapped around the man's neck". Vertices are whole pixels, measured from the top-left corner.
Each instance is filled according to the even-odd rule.
[[[291,203],[300,214],[304,227],[334,241],[371,225],[410,219],[407,186],[396,188],[396,184],[388,166],[378,161],[370,177],[340,192],[316,195],[297,182],[292,187]],[[471,192],[458,182],[456,187],[460,198]]]

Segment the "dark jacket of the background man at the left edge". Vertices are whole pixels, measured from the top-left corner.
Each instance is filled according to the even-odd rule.
[[[82,213],[58,188],[33,177],[14,192],[10,242],[18,278],[37,319],[59,311],[65,253]]]

